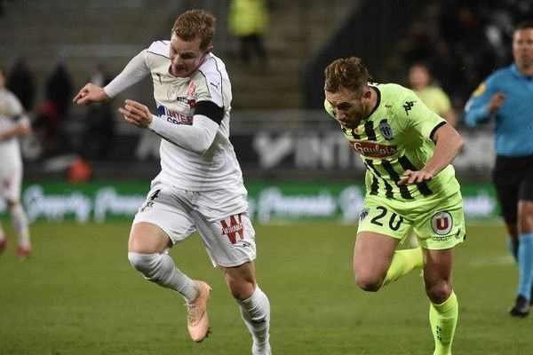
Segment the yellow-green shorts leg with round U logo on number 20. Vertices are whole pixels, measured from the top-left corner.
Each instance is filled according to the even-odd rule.
[[[465,240],[465,213],[461,193],[433,196],[426,201],[426,212],[415,217],[413,229],[420,247],[442,250]]]

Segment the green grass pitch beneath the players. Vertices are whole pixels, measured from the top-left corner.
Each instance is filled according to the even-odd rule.
[[[129,228],[129,222],[36,223],[34,256],[26,262],[15,258],[11,238],[0,256],[0,354],[250,354],[237,305],[199,238],[171,250],[184,272],[213,288],[211,335],[197,344],[188,338],[182,298],[131,268]],[[274,354],[433,353],[417,272],[376,294],[356,288],[354,225],[256,229],[257,273],[272,306]],[[533,353],[533,319],[507,314],[517,272],[504,228],[470,225],[467,232],[456,253],[454,355]]]

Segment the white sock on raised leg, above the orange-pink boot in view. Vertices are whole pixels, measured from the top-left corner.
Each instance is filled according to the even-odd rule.
[[[195,281],[180,272],[166,252],[163,254],[128,253],[131,265],[145,279],[155,282],[163,288],[171,288],[183,296],[186,301],[194,301],[197,295]]]

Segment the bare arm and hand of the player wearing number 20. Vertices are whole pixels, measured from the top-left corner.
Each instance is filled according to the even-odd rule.
[[[449,124],[444,124],[435,131],[434,142],[434,155],[426,165],[421,170],[406,170],[398,185],[418,184],[431,180],[455,159],[464,145],[463,138]]]

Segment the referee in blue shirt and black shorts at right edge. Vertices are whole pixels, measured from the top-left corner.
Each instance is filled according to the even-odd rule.
[[[509,235],[509,250],[518,264],[512,316],[525,317],[533,302],[533,22],[513,32],[513,64],[489,75],[465,106],[471,127],[495,125],[493,182]]]

